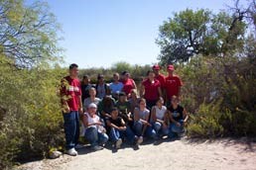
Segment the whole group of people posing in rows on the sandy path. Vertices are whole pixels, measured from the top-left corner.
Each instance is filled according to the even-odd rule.
[[[180,105],[183,83],[174,74],[174,65],[167,71],[165,77],[154,65],[138,89],[127,71],[121,76],[114,73],[109,84],[99,74],[93,85],[87,75],[80,82],[78,65],[69,65],[61,88],[66,153],[77,155],[79,120],[93,150],[102,149],[108,140],[118,149],[124,141],[138,146],[145,138],[175,138],[184,133],[189,117]]]

